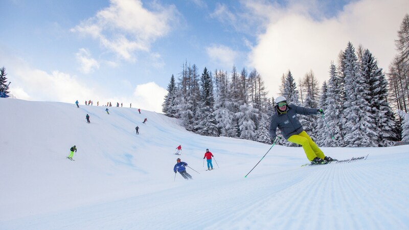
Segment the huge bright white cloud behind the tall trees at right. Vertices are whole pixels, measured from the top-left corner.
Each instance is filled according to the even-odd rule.
[[[258,35],[249,62],[274,96],[278,96],[280,77],[288,70],[296,80],[310,70],[320,83],[328,80],[330,61],[337,60],[348,41],[356,48],[359,44],[368,48],[379,66],[387,69],[396,54],[397,30],[409,9],[406,0],[361,0],[345,6],[332,18],[316,20],[310,16],[315,1],[289,1],[287,8],[263,7],[260,1],[255,2],[255,5],[247,2],[252,15],[264,12],[271,16],[265,32]]]

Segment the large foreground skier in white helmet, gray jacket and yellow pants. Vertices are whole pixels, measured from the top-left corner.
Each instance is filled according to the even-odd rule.
[[[274,100],[275,113],[271,116],[269,133],[274,142],[278,141],[276,130],[279,128],[284,138],[292,143],[303,146],[305,154],[311,164],[327,164],[334,159],[325,156],[324,152],[312,141],[311,137],[304,131],[303,126],[297,118],[297,114],[315,115],[324,113],[322,109],[305,108],[296,105],[288,105],[287,99],[277,97]]]

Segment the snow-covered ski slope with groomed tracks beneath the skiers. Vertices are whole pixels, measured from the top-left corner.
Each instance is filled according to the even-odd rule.
[[[274,146],[244,178],[270,145],[105,108],[0,99],[0,229],[409,229],[408,146],[323,148],[369,157],[303,168],[302,148]],[[177,157],[193,180],[175,177]]]

